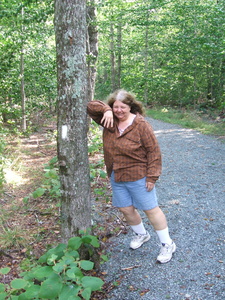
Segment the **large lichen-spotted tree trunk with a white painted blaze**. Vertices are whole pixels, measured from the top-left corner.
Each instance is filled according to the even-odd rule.
[[[86,1],[55,0],[62,240],[91,226],[87,147]]]

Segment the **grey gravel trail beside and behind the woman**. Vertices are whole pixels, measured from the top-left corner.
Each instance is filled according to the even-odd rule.
[[[129,249],[132,232],[110,239],[106,281],[112,300],[225,299],[225,143],[178,125],[148,118],[163,155],[159,205],[177,245],[173,259],[156,263],[158,238]],[[128,269],[127,269],[128,268]],[[130,269],[129,269],[130,268]],[[124,270],[127,269],[127,270]]]

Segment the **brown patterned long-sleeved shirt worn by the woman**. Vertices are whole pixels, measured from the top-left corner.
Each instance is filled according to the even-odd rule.
[[[101,125],[103,114],[111,107],[101,101],[88,103],[89,116]],[[136,181],[147,177],[155,183],[162,169],[161,153],[151,125],[140,114],[132,125],[119,134],[117,121],[114,126],[103,130],[104,159],[108,176],[112,171],[115,180]]]

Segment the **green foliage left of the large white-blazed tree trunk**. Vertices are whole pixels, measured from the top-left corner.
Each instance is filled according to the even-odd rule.
[[[24,50],[26,115],[56,102],[54,1],[3,1],[0,4],[0,114],[4,123],[21,121],[21,50]],[[30,121],[31,122],[31,121]]]

